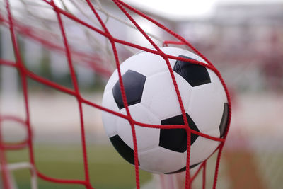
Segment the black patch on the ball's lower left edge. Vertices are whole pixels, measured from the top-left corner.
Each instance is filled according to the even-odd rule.
[[[120,137],[119,135],[115,135],[110,137],[110,141],[112,142],[115,149],[118,153],[130,164],[134,165],[134,150],[131,149]]]

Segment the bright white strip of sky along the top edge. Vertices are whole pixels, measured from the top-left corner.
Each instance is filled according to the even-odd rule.
[[[196,18],[209,16],[216,4],[260,4],[283,0],[124,0],[126,3],[172,17]]]

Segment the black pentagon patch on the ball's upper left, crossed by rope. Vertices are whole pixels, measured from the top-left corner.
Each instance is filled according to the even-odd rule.
[[[144,83],[146,76],[139,74],[137,71],[128,70],[122,75],[128,105],[134,105],[141,102],[142,91],[144,91]],[[125,108],[119,81],[112,88],[113,97],[121,110]]]

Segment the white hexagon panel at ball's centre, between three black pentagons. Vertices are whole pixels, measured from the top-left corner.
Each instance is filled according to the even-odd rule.
[[[187,110],[192,87],[182,76],[175,72],[174,75],[184,108]],[[169,71],[163,71],[147,77],[142,97],[141,103],[158,115],[158,118],[161,120],[182,113]]]

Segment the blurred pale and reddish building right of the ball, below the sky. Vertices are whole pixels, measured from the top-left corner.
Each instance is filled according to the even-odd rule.
[[[244,90],[283,89],[283,3],[219,4],[177,30]]]

